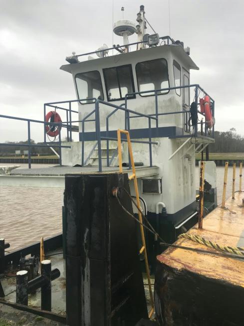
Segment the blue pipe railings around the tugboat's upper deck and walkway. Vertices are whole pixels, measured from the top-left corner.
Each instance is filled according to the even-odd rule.
[[[38,147],[38,146],[42,146],[42,147],[58,147],[60,148],[60,153],[59,153],[59,162],[61,165],[61,148],[70,148],[71,146],[68,145],[62,145],[61,144],[61,127],[66,128],[66,132],[67,132],[67,141],[72,141],[72,128],[74,127],[72,125],[72,123],[81,123],[82,126],[82,131],[78,130],[78,126],[77,127],[77,131],[79,131],[81,133],[81,164],[82,166],[84,166],[87,161],[89,160],[89,157],[91,155],[91,152],[88,154],[88,156],[84,157],[84,153],[85,153],[85,123],[86,122],[94,122],[95,123],[95,134],[96,134],[96,144],[94,145],[92,151],[98,147],[98,169],[99,171],[102,171],[102,155],[101,155],[101,141],[102,140],[106,140],[106,163],[107,166],[110,165],[110,161],[109,161],[109,141],[111,140],[117,140],[117,138],[115,137],[109,137],[109,119],[110,117],[115,114],[117,111],[123,111],[124,112],[124,125],[125,125],[125,129],[128,130],[130,132],[130,119],[131,118],[147,118],[148,119],[148,141],[147,140],[139,140],[139,139],[131,139],[132,142],[137,142],[137,143],[144,143],[144,144],[148,144],[149,145],[149,161],[150,161],[150,166],[152,166],[152,145],[153,144],[157,144],[156,141],[152,141],[152,130],[151,130],[151,121],[155,120],[156,121],[156,128],[158,127],[158,119],[159,116],[161,115],[169,115],[169,114],[190,114],[190,110],[181,110],[181,111],[172,111],[172,112],[159,112],[158,109],[158,96],[160,94],[160,92],[162,91],[170,91],[170,90],[174,90],[174,89],[178,89],[178,88],[191,88],[194,87],[194,101],[196,102],[197,107],[199,106],[199,92],[202,91],[204,95],[208,95],[211,99],[211,106],[212,106],[212,113],[213,113],[213,117],[214,117],[214,113],[215,113],[215,101],[214,99],[202,88],[200,87],[200,85],[198,84],[190,84],[190,85],[184,85],[184,86],[175,86],[175,87],[168,87],[168,88],[161,88],[161,89],[156,89],[156,90],[147,90],[147,91],[139,91],[139,92],[133,92],[133,93],[128,93],[125,95],[125,103],[121,104],[120,106],[113,104],[111,102],[107,102],[101,99],[97,99],[97,98],[85,98],[85,99],[74,99],[74,100],[67,100],[67,101],[60,101],[60,102],[50,102],[50,103],[45,103],[44,104],[44,121],[40,121],[40,120],[34,120],[34,119],[26,119],[26,118],[20,118],[20,117],[14,117],[14,116],[8,116],[8,115],[2,115],[0,114],[0,118],[10,118],[10,119],[15,119],[15,120],[22,120],[22,121],[26,121],[27,122],[27,130],[28,130],[28,143],[27,144],[19,144],[19,143],[0,143],[0,145],[10,145],[10,146],[25,146],[28,147],[28,166],[29,168],[31,167],[31,147]],[[144,114],[141,112],[137,112],[134,110],[131,110],[127,107],[128,105],[128,97],[133,95],[137,95],[137,94],[145,94],[145,93],[152,93],[154,92],[154,96],[155,96],[155,113],[152,114]],[[93,103],[95,104],[95,108],[88,113],[82,120],[73,120],[71,118],[72,113],[78,113],[77,110],[72,109],[72,103],[77,103],[80,101],[93,101]],[[101,126],[100,126],[100,103],[103,105],[106,105],[108,107],[113,108],[113,110],[106,116],[106,136],[101,135]],[[62,104],[67,104],[68,108],[62,107]],[[124,106],[124,107],[123,107]],[[56,109],[60,109],[60,110],[64,110],[66,112],[66,121],[62,121],[62,122],[50,122],[50,121],[45,121],[45,116],[46,116],[46,110],[47,108],[54,108]],[[203,116],[204,113],[198,111],[199,114],[202,114]],[[43,129],[44,129],[44,143],[43,144],[31,144],[30,142],[30,123],[42,123],[43,124]],[[196,124],[194,125],[194,136],[198,136],[199,135],[199,131],[198,131],[198,124],[201,124],[201,126],[205,123],[205,131],[204,131],[204,135],[205,136],[210,136],[210,134],[208,133],[208,129],[207,129],[207,121],[196,121]],[[59,126],[59,138],[58,141],[56,142],[47,142],[46,141],[46,125],[50,126]],[[203,132],[202,132],[203,134]],[[182,135],[182,136],[186,136],[186,134]],[[191,136],[190,132],[189,132],[189,136]],[[214,125],[213,125],[213,129],[211,132],[211,136],[214,138]],[[179,136],[181,137],[181,136]],[[145,136],[143,137],[145,138]],[[127,141],[126,138],[122,138],[122,141]],[[130,162],[129,162],[129,167],[131,167]]]

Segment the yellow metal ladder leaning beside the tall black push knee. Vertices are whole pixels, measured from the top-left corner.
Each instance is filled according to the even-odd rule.
[[[128,149],[129,149],[129,155],[130,155],[131,167],[132,167],[132,175],[129,176],[129,180],[134,179],[134,186],[135,186],[135,192],[136,192],[136,203],[137,203],[137,207],[140,207],[140,199],[139,199],[139,192],[138,192],[138,185],[137,185],[137,178],[136,178],[136,169],[135,169],[135,163],[134,163],[134,158],[133,158],[133,153],[132,153],[130,134],[129,134],[129,131],[122,130],[122,129],[117,130],[119,171],[120,171],[120,173],[123,173],[122,150],[121,150],[121,133],[126,134],[126,137],[127,137],[127,143],[128,143]],[[152,285],[151,285],[150,272],[149,272],[149,266],[148,266],[146,241],[145,241],[144,229],[143,229],[143,225],[142,225],[142,223],[143,223],[143,221],[142,221],[142,213],[141,213],[140,209],[138,209],[138,216],[139,216],[139,221],[140,221],[141,238],[142,238],[142,247],[141,247],[139,252],[140,253],[144,252],[144,256],[145,256],[145,266],[146,266],[146,273],[147,273],[149,293],[150,293],[150,302],[151,302],[151,309],[150,309],[150,311],[148,313],[148,316],[149,316],[149,318],[151,318],[151,316],[152,316],[152,314],[154,312],[153,292],[152,292]]]

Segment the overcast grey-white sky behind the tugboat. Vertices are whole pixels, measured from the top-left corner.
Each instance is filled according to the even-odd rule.
[[[135,20],[140,4],[168,35],[168,0],[114,0],[114,10],[113,0],[0,0],[0,113],[43,119],[44,102],[74,99],[71,74],[59,70],[65,57],[122,44],[113,39],[113,11],[114,21],[121,6]],[[216,129],[244,135],[244,0],[170,0],[170,27],[200,67],[191,83],[216,100]],[[26,139],[25,125],[0,118],[0,141]],[[42,140],[42,128],[31,126],[31,137]]]

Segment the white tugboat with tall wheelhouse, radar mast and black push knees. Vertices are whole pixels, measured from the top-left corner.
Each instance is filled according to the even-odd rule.
[[[11,177],[16,176],[19,185],[65,187],[63,236],[46,239],[44,247],[49,257],[54,257],[55,248],[63,248],[56,259],[66,262],[66,315],[58,320],[70,326],[149,324],[145,318],[154,312],[150,272],[155,272],[155,257],[163,250],[160,242],[172,244],[198,220],[195,153],[215,141],[215,101],[199,84],[190,83],[190,70],[199,69],[190,48],[170,36],[145,33],[146,22],[141,5],[136,23],[122,19],[114,24],[123,45],[103,44],[95,51],[66,57],[68,64],[61,70],[72,74],[77,98],[45,103],[44,121],[39,121],[43,146],[60,148],[60,166],[18,169],[0,176],[1,185],[12,184]],[[129,43],[134,33],[138,40]],[[61,141],[65,129],[67,141]],[[78,132],[79,141],[72,141],[72,132]],[[206,161],[208,212],[217,206],[215,176],[215,163]],[[39,244],[1,257],[2,270],[15,268],[19,259],[26,269],[23,256],[28,253],[35,256],[31,261],[36,270]],[[146,262],[149,311],[140,260]],[[25,277],[25,285],[21,285],[25,273],[17,277],[20,305],[26,306],[26,295],[19,297],[19,288],[41,287],[39,314],[44,308],[50,310],[45,273],[49,272],[49,285],[58,276],[57,270],[51,274],[42,264],[41,275],[37,270],[27,283]],[[49,305],[44,304],[45,295]],[[156,308],[159,321],[162,303]],[[54,315],[45,313],[52,319]],[[161,324],[170,324],[166,319]]]

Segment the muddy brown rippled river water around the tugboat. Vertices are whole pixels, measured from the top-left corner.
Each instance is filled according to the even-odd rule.
[[[4,165],[4,164],[1,164]],[[5,164],[9,165],[9,164]],[[32,164],[32,167],[46,165]],[[51,165],[48,165],[51,166]],[[27,167],[21,164],[20,168]],[[199,178],[196,167],[196,179]],[[239,175],[237,169],[236,175]],[[222,200],[224,166],[217,167],[218,203]],[[239,187],[237,177],[236,188]],[[232,169],[229,168],[227,197],[232,193]],[[38,241],[62,230],[63,189],[0,186],[0,237],[10,243],[9,251]]]

